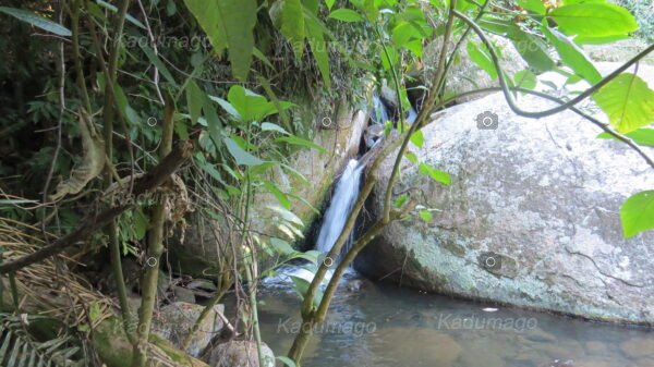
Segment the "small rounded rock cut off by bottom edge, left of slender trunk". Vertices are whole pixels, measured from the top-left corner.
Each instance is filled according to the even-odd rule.
[[[262,344],[263,367],[275,367],[275,354],[265,343]],[[209,353],[211,367],[259,367],[255,342],[231,341],[216,345]]]

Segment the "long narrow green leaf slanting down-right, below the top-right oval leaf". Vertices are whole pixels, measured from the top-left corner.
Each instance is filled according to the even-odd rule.
[[[542,27],[545,37],[552,42],[564,64],[572,69],[591,84],[596,84],[602,79],[602,75],[595,69],[591,60],[583,53],[570,38],[556,29],[546,26]]]

